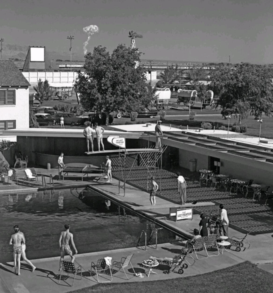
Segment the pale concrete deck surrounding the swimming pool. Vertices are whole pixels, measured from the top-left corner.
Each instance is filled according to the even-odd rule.
[[[56,175],[57,170],[52,169],[47,171],[45,169],[37,169],[38,172],[42,171],[43,173]],[[19,170],[20,174],[23,174],[23,170]],[[39,183],[39,182],[38,182]],[[92,189],[99,191],[104,197],[111,199],[113,202],[119,202],[121,205],[128,206],[131,209],[136,208],[137,212],[142,212],[147,215],[149,218],[166,216],[169,213],[169,205],[172,203],[168,200],[157,197],[157,205],[164,205],[159,209],[147,209],[147,206],[150,205],[149,194],[142,190],[137,189],[126,184],[126,194],[123,196],[123,190],[120,190],[118,194],[118,180],[113,179],[112,183],[106,182],[94,182],[94,181],[78,181],[76,184],[75,180],[54,180],[55,189],[58,188],[70,188],[72,185],[74,188],[82,185],[90,185]],[[0,186],[0,190],[1,187]],[[5,188],[7,185],[4,185]],[[15,187],[9,185],[10,191],[16,193]],[[25,186],[20,188],[24,190]],[[26,186],[26,188],[29,188]],[[38,188],[41,188],[39,183]],[[13,189],[13,190],[12,190]],[[36,189],[32,189],[34,192]],[[32,192],[33,192],[32,191]],[[30,191],[27,191],[30,192]],[[5,193],[7,190],[5,189]],[[176,204],[173,204],[177,206]],[[143,206],[143,208],[141,208]],[[192,220],[183,220],[183,221],[173,221],[169,220],[160,220],[165,224],[179,228],[186,233],[189,237],[192,234],[193,228],[198,227],[199,215],[194,215]],[[162,222],[162,223],[163,223]],[[243,237],[244,235],[234,229],[229,228],[230,236]],[[172,279],[172,278],[184,278],[187,276],[194,276],[197,274],[204,274],[207,272],[224,269],[226,267],[239,264],[243,261],[251,261],[254,264],[259,264],[259,267],[273,273],[272,264],[272,233],[259,234],[259,235],[249,235],[248,237],[251,246],[249,249],[241,252],[236,252],[232,250],[224,251],[224,254],[220,254],[215,257],[206,257],[201,260],[195,260],[193,266],[189,266],[184,270],[184,274],[180,275],[177,273],[163,274],[162,268],[159,266],[157,269],[154,269],[158,274],[151,274],[149,278],[144,274],[144,278],[129,276],[130,280],[126,280],[124,274],[121,272],[115,273],[113,275],[112,282],[145,282],[145,281],[154,281],[162,279]],[[184,241],[185,242],[185,241]],[[84,287],[89,287],[97,284],[94,276],[90,276],[88,270],[90,269],[91,261],[97,261],[101,257],[111,256],[113,260],[119,260],[122,256],[126,256],[130,251],[134,253],[132,258],[132,265],[136,272],[144,273],[145,270],[140,266],[141,262],[144,259],[148,259],[149,256],[159,256],[159,257],[173,257],[174,255],[179,254],[181,247],[184,245],[183,241],[175,241],[174,243],[165,243],[158,245],[157,249],[148,247],[147,250],[140,248],[126,248],[119,249],[114,251],[100,251],[90,254],[81,254],[76,256],[76,261],[81,264],[83,268],[83,279],[76,280],[73,287],[70,287],[64,281],[61,281],[61,284],[58,284],[58,269],[59,269],[59,258],[54,257],[51,259],[37,259],[33,260],[34,265],[37,267],[36,271],[32,273],[29,271],[29,267],[22,262],[21,266],[21,275],[16,276],[13,274],[12,263],[0,264],[1,274],[0,274],[0,292],[2,293],[46,293],[46,292],[69,292],[75,289],[80,289]],[[222,249],[221,249],[222,251]],[[201,252],[204,256],[204,251]],[[192,254],[193,255],[193,254]],[[195,258],[195,256],[194,256]],[[187,257],[187,260],[192,264],[193,260],[190,257]],[[126,273],[132,272],[131,267],[126,268]],[[71,284],[71,279],[68,280]]]

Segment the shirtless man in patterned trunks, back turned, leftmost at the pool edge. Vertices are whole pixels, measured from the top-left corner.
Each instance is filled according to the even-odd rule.
[[[21,243],[25,243],[25,237],[24,234],[20,232],[18,225],[15,225],[13,229],[15,233],[11,235],[9,244],[12,245],[13,249],[14,273],[20,275],[20,259],[22,253]]]

